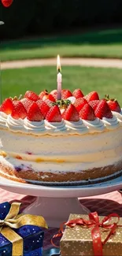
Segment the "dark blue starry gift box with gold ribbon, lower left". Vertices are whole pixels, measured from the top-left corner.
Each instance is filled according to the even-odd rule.
[[[11,205],[9,202],[0,204],[0,228],[2,220],[6,219],[10,212]],[[21,216],[21,215],[20,215]],[[26,217],[27,216],[27,217]],[[28,215],[24,215],[24,222]],[[15,218],[19,219],[18,217]],[[30,222],[19,228],[10,228],[6,225],[0,230],[0,256],[42,256],[44,230],[38,225],[31,224],[37,222],[35,216],[30,215]],[[41,217],[37,217],[41,220]]]

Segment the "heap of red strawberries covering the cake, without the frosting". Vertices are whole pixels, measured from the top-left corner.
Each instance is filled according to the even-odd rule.
[[[21,95],[20,95],[21,96]],[[14,119],[28,121],[77,122],[79,119],[94,121],[96,117],[102,119],[113,118],[113,113],[121,113],[120,105],[116,98],[110,99],[109,95],[100,99],[98,92],[91,91],[83,95],[80,89],[71,92],[61,91],[61,100],[57,100],[57,90],[41,91],[39,95],[34,91],[26,91],[24,97],[6,98],[0,106],[0,111],[10,114]]]

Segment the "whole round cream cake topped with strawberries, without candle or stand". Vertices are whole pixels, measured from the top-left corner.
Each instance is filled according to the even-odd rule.
[[[92,184],[122,173],[122,109],[80,89],[26,91],[0,106],[0,175],[35,184]]]

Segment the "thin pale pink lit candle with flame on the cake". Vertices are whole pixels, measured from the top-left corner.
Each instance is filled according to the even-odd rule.
[[[57,100],[61,99],[61,83],[62,83],[61,63],[60,63],[60,56],[57,55]]]

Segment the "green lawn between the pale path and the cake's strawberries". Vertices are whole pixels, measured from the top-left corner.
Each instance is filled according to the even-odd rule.
[[[63,88],[73,91],[80,87],[86,95],[90,91],[98,91],[101,97],[109,94],[118,98],[122,106],[122,72],[120,69],[101,69],[86,67],[68,67],[62,69]],[[57,72],[55,67],[2,70],[3,98],[23,94],[27,90],[48,91],[57,88]]]

